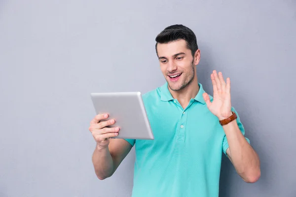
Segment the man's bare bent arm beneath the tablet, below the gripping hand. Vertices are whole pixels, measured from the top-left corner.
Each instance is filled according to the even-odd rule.
[[[124,139],[109,140],[109,146],[106,148],[96,146],[92,157],[96,175],[100,180],[110,177],[132,148]]]

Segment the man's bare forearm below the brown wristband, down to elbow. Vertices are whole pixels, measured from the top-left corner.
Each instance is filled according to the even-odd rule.
[[[245,182],[255,183],[261,174],[258,154],[246,140],[236,121],[222,127],[229,145],[227,157]]]

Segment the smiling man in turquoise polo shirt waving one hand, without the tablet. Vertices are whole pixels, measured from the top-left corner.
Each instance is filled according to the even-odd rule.
[[[120,131],[107,128],[114,124],[104,121],[108,114],[98,114],[89,128],[98,178],[110,177],[136,145],[133,197],[218,197],[222,153],[245,182],[256,182],[259,157],[231,106],[230,79],[214,70],[213,97],[205,93],[196,75],[200,50],[189,28],[167,27],[155,40],[167,82],[143,95],[154,140],[110,139]]]

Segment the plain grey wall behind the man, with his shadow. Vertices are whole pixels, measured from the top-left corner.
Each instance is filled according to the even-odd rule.
[[[0,197],[131,195],[134,149],[95,176],[90,93],[162,85],[154,38],[172,24],[196,33],[208,93],[213,69],[231,78],[261,159],[247,184],[223,156],[220,196],[296,197],[295,0],[1,0]]]

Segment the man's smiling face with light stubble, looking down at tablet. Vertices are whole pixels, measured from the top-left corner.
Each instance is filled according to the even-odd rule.
[[[161,72],[171,90],[178,91],[190,84],[195,76],[195,65],[198,64],[199,58],[192,57],[185,40],[158,43],[157,53]]]

